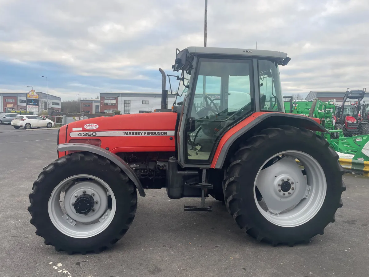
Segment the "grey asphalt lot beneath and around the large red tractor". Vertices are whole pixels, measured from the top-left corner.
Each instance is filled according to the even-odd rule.
[[[33,181],[56,159],[57,131],[0,126],[1,277],[368,276],[369,178],[357,175],[344,176],[344,206],[310,244],[256,242],[213,198],[206,199],[211,213],[184,212],[184,204],[200,199],[170,200],[158,189],[138,198],[134,222],[113,248],[73,256],[56,252],[35,235],[27,207]]]

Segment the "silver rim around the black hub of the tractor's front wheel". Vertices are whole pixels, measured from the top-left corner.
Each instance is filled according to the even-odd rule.
[[[76,181],[84,178],[87,180]],[[72,203],[78,196],[88,194],[94,198],[94,211],[87,215],[76,213]],[[65,192],[63,208],[60,196]],[[75,197],[77,195],[77,197]],[[108,197],[111,197],[111,207]],[[96,203],[97,201],[97,203]],[[52,191],[48,202],[48,212],[51,222],[63,234],[75,238],[87,238],[103,232],[111,223],[116,211],[115,196],[109,185],[92,175],[74,175],[64,179]]]

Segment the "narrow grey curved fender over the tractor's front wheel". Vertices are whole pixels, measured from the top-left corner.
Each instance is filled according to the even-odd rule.
[[[135,172],[124,160],[122,160],[120,157],[118,157],[114,153],[111,153],[105,150],[104,148],[94,146],[91,144],[86,144],[86,143],[62,143],[62,144],[59,144],[56,147],[56,149],[58,151],[87,151],[87,152],[94,153],[96,155],[100,155],[104,158],[107,158],[112,163],[118,165],[118,167],[120,167],[121,170],[123,170],[124,173],[127,174],[128,178],[130,178],[132,182],[135,184],[139,195],[143,197],[146,196],[144,188],[142,187],[142,184],[139,181],[138,177],[136,176]]]

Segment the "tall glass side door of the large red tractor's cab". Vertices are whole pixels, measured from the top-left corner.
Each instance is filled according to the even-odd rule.
[[[198,57],[180,120],[179,164],[210,167],[223,134],[255,111],[252,59]]]

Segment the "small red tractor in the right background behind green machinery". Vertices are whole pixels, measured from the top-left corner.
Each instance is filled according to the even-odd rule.
[[[368,130],[368,123],[363,122],[359,118],[359,112],[361,107],[361,101],[365,97],[365,89],[363,90],[350,90],[347,89],[344,98],[342,99],[342,105],[337,105],[335,110],[335,129],[341,129],[345,137],[354,135],[368,134],[363,133]],[[355,103],[346,105],[346,100],[357,99]],[[338,133],[337,133],[338,134]]]

